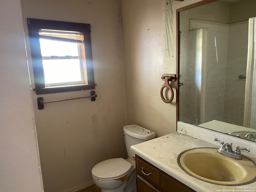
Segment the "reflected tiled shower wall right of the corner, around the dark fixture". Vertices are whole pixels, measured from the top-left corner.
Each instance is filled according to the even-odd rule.
[[[243,126],[248,52],[248,21],[230,24],[226,68],[224,121]]]

